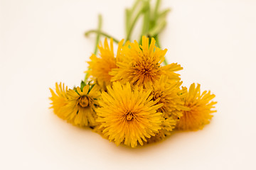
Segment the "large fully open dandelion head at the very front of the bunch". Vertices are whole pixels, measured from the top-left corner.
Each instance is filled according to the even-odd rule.
[[[156,105],[159,100],[151,100],[151,90],[138,86],[132,90],[128,82],[121,85],[117,81],[112,87],[107,86],[107,91],[102,92],[101,108],[96,108],[96,113],[97,121],[105,128],[102,133],[110,141],[136,147],[161,129],[162,116],[156,110],[163,104]]]

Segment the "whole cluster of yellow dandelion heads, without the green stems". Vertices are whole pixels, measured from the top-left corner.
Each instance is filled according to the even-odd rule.
[[[216,102],[200,85],[181,86],[181,65],[164,65],[166,49],[151,38],[142,45],[119,42],[114,51],[100,43],[100,55],[90,57],[87,81],[68,89],[50,89],[51,108],[58,117],[79,127],[90,127],[117,145],[137,147],[164,140],[174,130],[198,130],[213,117]]]

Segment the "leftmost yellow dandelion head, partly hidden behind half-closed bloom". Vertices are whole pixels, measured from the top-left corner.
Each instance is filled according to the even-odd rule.
[[[50,100],[52,101],[52,103],[50,103],[52,105],[50,108],[53,108],[53,112],[58,115],[58,117],[63,118],[63,108],[68,104],[68,86],[65,86],[62,83],[56,83],[55,90],[56,93],[53,91],[53,89],[50,89],[50,93],[52,95],[50,97]]]

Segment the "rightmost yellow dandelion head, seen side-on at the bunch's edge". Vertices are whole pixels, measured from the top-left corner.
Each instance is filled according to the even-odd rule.
[[[190,108],[190,111],[183,111],[178,121],[176,128],[178,130],[198,130],[203,129],[203,126],[210,123],[210,119],[213,117],[212,108],[215,108],[217,102],[211,101],[215,97],[214,94],[210,94],[210,91],[203,91],[201,94],[200,84],[195,86],[191,84],[187,96],[184,98],[185,106]]]

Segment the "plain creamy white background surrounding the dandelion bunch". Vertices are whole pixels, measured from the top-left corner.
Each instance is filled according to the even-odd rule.
[[[256,169],[256,1],[164,0],[160,36],[183,85],[218,101],[210,125],[130,149],[65,123],[49,110],[55,81],[79,85],[97,28],[124,38],[133,1],[0,1],[0,169]]]

